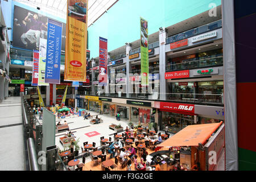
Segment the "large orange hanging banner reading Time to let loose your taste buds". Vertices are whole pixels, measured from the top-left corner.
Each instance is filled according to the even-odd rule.
[[[86,82],[88,0],[68,0],[64,81]]]

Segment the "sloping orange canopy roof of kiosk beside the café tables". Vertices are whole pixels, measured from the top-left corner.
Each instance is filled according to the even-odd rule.
[[[222,121],[220,123],[189,125],[173,137],[158,144],[158,147],[199,146],[199,143],[204,144],[221,124]]]

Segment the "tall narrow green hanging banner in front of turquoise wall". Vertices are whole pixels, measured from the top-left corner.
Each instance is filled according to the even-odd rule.
[[[141,18],[141,85],[148,86],[148,23]]]

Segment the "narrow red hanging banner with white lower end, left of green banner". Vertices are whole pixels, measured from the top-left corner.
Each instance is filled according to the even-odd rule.
[[[100,37],[100,71],[99,83],[100,86],[108,84],[108,39]]]

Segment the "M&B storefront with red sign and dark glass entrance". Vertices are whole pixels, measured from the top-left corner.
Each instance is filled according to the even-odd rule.
[[[189,125],[195,125],[197,117],[195,115],[195,105],[179,104],[171,102],[155,102],[158,111],[158,121],[160,130],[177,133]]]

